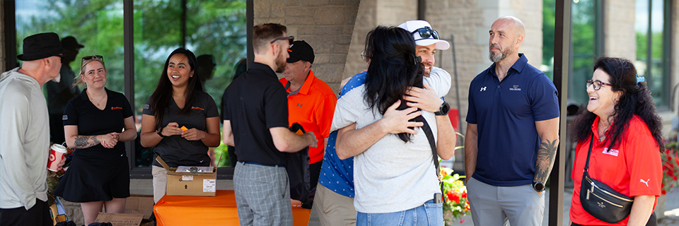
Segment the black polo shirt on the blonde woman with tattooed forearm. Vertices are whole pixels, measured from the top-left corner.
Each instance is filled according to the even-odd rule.
[[[95,107],[87,96],[87,89],[73,97],[64,109],[64,126],[78,126],[78,135],[95,136],[107,133],[121,133],[125,127],[124,119],[132,117],[132,107],[122,93],[106,89],[108,98],[103,110]],[[125,143],[118,142],[112,149],[98,144],[90,148],[76,149],[74,155],[91,160],[109,161],[108,157],[127,157]]]

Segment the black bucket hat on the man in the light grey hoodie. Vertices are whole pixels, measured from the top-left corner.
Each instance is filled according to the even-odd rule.
[[[59,35],[54,32],[30,35],[23,39],[23,54],[16,56],[21,61],[35,61],[66,52],[59,42]]]

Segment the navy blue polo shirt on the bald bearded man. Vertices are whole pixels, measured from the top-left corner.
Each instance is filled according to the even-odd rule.
[[[533,183],[540,137],[535,121],[559,117],[557,88],[519,54],[500,82],[495,64],[469,88],[467,122],[477,124],[475,179],[493,186]]]

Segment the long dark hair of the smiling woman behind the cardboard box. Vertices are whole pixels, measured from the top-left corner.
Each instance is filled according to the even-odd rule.
[[[170,78],[168,78],[168,66],[170,65],[170,58],[175,54],[184,54],[187,59],[189,59],[189,66],[191,71],[193,71],[193,77],[189,78],[189,84],[187,86],[186,101],[184,107],[180,110],[179,114],[189,116],[191,114],[191,106],[193,105],[193,100],[197,90],[202,91],[203,86],[200,84],[198,79],[198,71],[196,70],[197,60],[196,55],[193,54],[188,49],[178,48],[175,49],[168,59],[165,61],[165,67],[163,67],[163,73],[161,73],[161,78],[158,79],[158,85],[156,90],[153,90],[151,94],[151,109],[153,109],[153,116],[156,117],[156,128],[161,127],[163,122],[163,114],[165,114],[166,109],[170,106],[170,99],[172,98],[172,83],[170,83]]]

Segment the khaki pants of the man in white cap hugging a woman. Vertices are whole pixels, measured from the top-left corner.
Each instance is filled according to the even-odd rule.
[[[354,198],[330,191],[320,183],[316,186],[313,209],[318,213],[320,225],[356,225]]]

